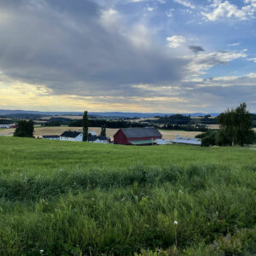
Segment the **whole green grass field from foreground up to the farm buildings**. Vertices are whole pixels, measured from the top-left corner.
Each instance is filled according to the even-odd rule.
[[[0,137],[0,168],[0,255],[256,252],[256,150]]]

